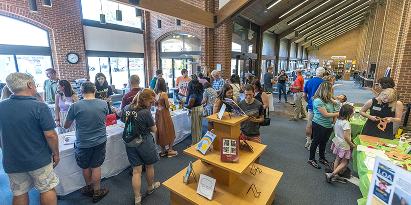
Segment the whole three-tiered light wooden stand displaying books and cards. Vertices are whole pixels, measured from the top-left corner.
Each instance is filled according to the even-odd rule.
[[[213,194],[212,200],[197,194],[198,181],[195,182],[192,176],[189,177],[187,184],[183,183],[183,176],[186,171],[186,168],[184,168],[163,182],[163,186],[170,189],[171,205],[271,204],[273,202],[275,188],[283,173],[253,163],[267,148],[266,145],[247,141],[253,146],[254,152],[240,150],[238,162],[224,162],[220,160],[221,137],[238,138],[240,136],[240,123],[247,120],[247,118],[247,115],[243,115],[232,116],[230,119],[228,112],[224,113],[221,120],[217,118],[217,114],[206,117],[206,119],[214,121],[214,133],[217,135],[212,144],[214,148],[211,152],[207,151],[205,155],[195,148],[196,145],[185,149],[183,152],[198,158],[198,160],[192,163],[197,180],[200,174],[216,179],[216,192]],[[251,173],[252,165],[259,167],[262,172],[253,169],[253,173]],[[254,196],[253,190],[246,194],[253,183],[257,191],[261,192],[259,197]],[[254,189],[254,191],[256,190]],[[257,192],[255,194],[258,195]]]

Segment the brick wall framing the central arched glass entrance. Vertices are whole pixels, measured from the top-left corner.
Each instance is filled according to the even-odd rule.
[[[216,12],[218,0],[181,0],[197,8]],[[148,83],[159,68],[158,42],[173,33],[188,33],[201,39],[201,70],[204,66],[216,69],[217,64],[222,64],[221,76],[228,78],[231,69],[231,41],[233,25],[231,20],[226,20],[217,28],[206,28],[191,22],[181,20],[181,25],[176,26],[174,18],[143,12],[144,31],[144,57],[146,68],[146,82]],[[156,20],[161,20],[161,27],[157,28]],[[213,79],[212,79],[213,80]]]

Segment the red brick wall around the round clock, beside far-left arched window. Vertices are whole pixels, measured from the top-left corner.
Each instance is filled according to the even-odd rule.
[[[53,66],[59,78],[74,80],[88,76],[83,23],[79,0],[53,1],[52,7],[42,6],[30,12],[27,0],[0,0],[0,14],[17,18],[49,31]],[[68,52],[79,55],[77,64],[66,61]]]

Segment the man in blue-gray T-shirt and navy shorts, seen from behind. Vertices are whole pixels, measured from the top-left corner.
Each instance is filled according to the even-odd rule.
[[[81,193],[93,197],[93,203],[98,202],[108,193],[108,187],[100,188],[100,166],[106,157],[105,121],[109,110],[106,101],[95,98],[96,91],[96,86],[92,82],[84,82],[81,85],[84,99],[70,105],[64,123],[64,127],[68,128],[76,119],[74,155],[77,165],[83,169],[83,177],[86,181],[86,186],[81,188]]]

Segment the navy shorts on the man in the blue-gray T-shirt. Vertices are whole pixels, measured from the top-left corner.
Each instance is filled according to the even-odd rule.
[[[87,148],[80,148],[74,144],[74,156],[76,157],[77,165],[82,169],[101,166],[106,158],[106,142],[104,141],[99,145]]]

